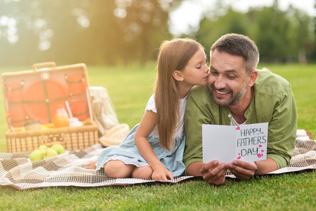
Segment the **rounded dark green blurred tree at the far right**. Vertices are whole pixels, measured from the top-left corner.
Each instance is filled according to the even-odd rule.
[[[263,8],[255,17],[257,29],[253,39],[260,49],[261,61],[292,62],[312,42],[311,18],[290,7],[280,11],[277,6]]]

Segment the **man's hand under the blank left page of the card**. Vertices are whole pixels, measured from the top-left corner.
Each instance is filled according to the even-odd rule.
[[[225,183],[226,164],[218,160],[204,164],[200,170],[203,180],[208,184],[222,185]]]

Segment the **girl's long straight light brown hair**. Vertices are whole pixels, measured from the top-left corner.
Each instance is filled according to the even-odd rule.
[[[173,150],[174,134],[180,118],[179,96],[173,72],[183,71],[199,47],[202,45],[194,39],[174,38],[164,41],[159,49],[154,100],[160,143],[167,150]]]

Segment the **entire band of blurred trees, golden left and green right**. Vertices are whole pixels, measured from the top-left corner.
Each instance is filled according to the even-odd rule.
[[[156,59],[163,40],[174,37],[169,15],[182,2],[0,0],[0,64],[145,65]],[[207,50],[220,36],[234,32],[257,43],[261,61],[316,60],[315,17],[298,9],[281,11],[275,5],[241,13],[216,1],[202,17],[192,35]]]

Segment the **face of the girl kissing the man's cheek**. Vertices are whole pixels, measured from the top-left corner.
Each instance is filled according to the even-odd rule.
[[[199,47],[183,70],[184,82],[190,86],[205,85],[208,71],[204,49]]]

